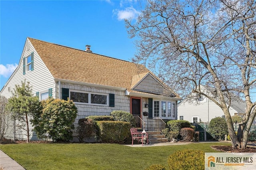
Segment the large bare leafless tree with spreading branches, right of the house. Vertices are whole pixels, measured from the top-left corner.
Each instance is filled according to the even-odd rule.
[[[255,12],[254,0],[147,0],[135,22],[125,21],[130,37],[137,37],[133,61],[159,73],[176,91],[216,103],[232,146],[242,149],[256,114],[250,97],[256,87]],[[200,91],[201,84],[214,88],[217,98]],[[236,136],[225,99],[238,96],[246,112]]]

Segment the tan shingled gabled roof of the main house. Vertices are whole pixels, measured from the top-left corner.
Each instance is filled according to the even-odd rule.
[[[132,89],[148,73],[154,76],[143,65],[33,38],[28,40],[54,79]]]

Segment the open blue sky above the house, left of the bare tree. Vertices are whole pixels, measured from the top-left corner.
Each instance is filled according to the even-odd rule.
[[[134,18],[143,1],[0,0],[0,89],[16,69],[27,37],[130,61],[134,39],[124,18]]]

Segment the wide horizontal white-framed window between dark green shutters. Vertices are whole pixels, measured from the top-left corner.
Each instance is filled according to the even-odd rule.
[[[108,95],[102,93],[91,93],[84,91],[70,90],[70,100],[79,104],[107,105]]]

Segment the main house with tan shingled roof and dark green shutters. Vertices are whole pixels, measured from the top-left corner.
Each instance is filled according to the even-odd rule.
[[[0,95],[12,97],[15,85],[25,79],[40,100],[73,100],[78,108],[75,126],[79,119],[114,110],[130,112],[145,130],[158,126],[156,121],[177,118],[180,97],[158,77],[143,65],[93,53],[90,45],[80,50],[27,38],[18,67]],[[26,138],[22,130],[9,129],[10,138]]]

